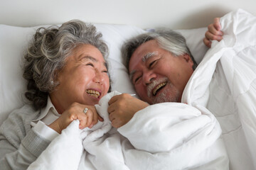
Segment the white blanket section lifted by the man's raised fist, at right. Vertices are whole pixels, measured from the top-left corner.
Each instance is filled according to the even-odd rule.
[[[256,17],[238,10],[220,24],[223,40],[213,42],[182,102],[216,116],[230,169],[256,169]]]

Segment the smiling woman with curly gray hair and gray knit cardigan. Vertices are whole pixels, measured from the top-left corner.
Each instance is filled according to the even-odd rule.
[[[108,48],[95,26],[69,21],[39,28],[24,55],[29,104],[9,115],[0,130],[1,169],[26,169],[73,120],[91,128],[110,89]]]

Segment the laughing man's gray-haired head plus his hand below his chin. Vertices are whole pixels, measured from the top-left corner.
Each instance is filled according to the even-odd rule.
[[[181,102],[183,89],[197,66],[185,38],[172,30],[139,35],[123,47],[130,78],[142,101],[128,94],[114,96],[110,100],[110,113],[117,105],[126,106],[110,114],[110,120],[118,114],[112,121],[116,128],[127,123],[134,113],[149,104]]]

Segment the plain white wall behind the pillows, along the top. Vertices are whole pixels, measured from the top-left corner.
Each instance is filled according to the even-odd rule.
[[[0,0],[0,23],[38,26],[77,18],[140,28],[199,28],[238,8],[256,15],[256,0]]]

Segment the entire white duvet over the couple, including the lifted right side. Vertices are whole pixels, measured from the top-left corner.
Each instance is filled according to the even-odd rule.
[[[199,64],[183,103],[149,106],[114,129],[107,101],[117,92],[107,94],[97,106],[103,123],[79,130],[73,121],[28,169],[229,169],[228,157],[231,169],[254,169],[255,21],[241,10],[221,19],[223,41]]]

